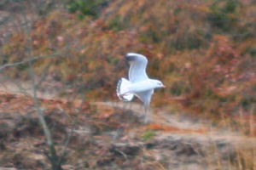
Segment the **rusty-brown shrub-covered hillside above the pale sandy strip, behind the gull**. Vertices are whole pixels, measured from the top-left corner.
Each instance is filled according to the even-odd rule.
[[[255,103],[253,0],[78,2],[55,1],[43,14],[35,14],[38,6],[20,8],[27,17],[22,10],[8,13],[20,20],[2,29],[0,63],[46,56],[33,63],[38,77],[47,70],[49,81],[66,84],[73,94],[114,99],[116,82],[127,72],[124,55],[137,52],[148,56],[149,75],[168,87],[154,105],[177,101],[197,114],[227,116]],[[27,79],[27,66],[5,73]]]

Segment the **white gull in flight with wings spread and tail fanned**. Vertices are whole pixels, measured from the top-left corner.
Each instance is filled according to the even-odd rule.
[[[119,99],[131,101],[134,95],[143,102],[145,110],[144,122],[149,120],[149,105],[154,94],[154,88],[166,88],[162,82],[148,78],[146,67],[148,59],[143,54],[128,53],[125,56],[130,64],[129,80],[120,78],[117,84],[117,95]]]

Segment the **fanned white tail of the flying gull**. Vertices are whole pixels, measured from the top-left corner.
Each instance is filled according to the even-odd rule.
[[[118,95],[119,99],[124,101],[131,101],[134,94],[129,93],[128,86],[131,84],[127,79],[121,78],[118,82],[116,87],[116,94]]]

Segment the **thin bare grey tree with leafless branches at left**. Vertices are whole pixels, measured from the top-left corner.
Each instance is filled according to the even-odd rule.
[[[6,3],[9,3],[9,2],[5,1],[5,3],[1,3],[0,8],[1,8],[1,6],[6,5]],[[31,6],[34,5],[34,7],[36,9],[40,8],[39,5],[35,5],[35,4],[37,4],[37,3],[32,3]],[[20,3],[19,5],[20,5],[19,6],[20,10],[22,8],[25,8],[25,4]],[[44,110],[41,108],[40,100],[38,99],[38,88],[40,88],[42,82],[44,82],[44,80],[45,80],[45,77],[47,77],[51,63],[49,63],[49,65],[45,66],[44,70],[41,72],[40,75],[36,75],[36,71],[34,71],[33,63],[40,59],[55,59],[56,57],[60,57],[62,52],[57,51],[53,54],[35,56],[33,53],[32,37],[31,37],[32,21],[28,19],[27,15],[24,11],[21,10],[21,14],[22,14],[22,17],[20,17],[20,20],[21,20],[20,27],[21,27],[21,29],[23,29],[26,32],[26,57],[25,57],[26,59],[23,59],[19,62],[3,64],[2,66],[0,66],[0,73],[1,72],[3,73],[7,68],[10,68],[10,67],[17,67],[20,65],[28,65],[27,71],[28,71],[28,75],[29,75],[31,87],[32,87],[31,92],[27,92],[26,89],[23,88],[19,82],[16,84],[20,88],[20,91],[23,94],[30,95],[32,97],[32,99],[34,101],[34,108],[38,115],[38,121],[40,122],[41,127],[43,128],[46,143],[49,148],[49,151],[46,151],[45,155],[49,158],[51,168],[53,170],[61,170],[62,169],[61,164],[63,163],[64,156],[66,156],[67,145],[71,139],[72,132],[67,134],[67,140],[64,143],[64,146],[61,150],[61,154],[58,155],[57,151],[55,149],[55,142],[54,142],[52,133],[50,131],[49,125],[44,118]],[[6,30],[4,30],[4,31],[6,31]],[[4,39],[4,37],[2,37],[1,40],[2,40],[1,43],[4,43],[5,40],[8,41],[7,38]],[[38,79],[38,77],[39,77],[39,79]]]

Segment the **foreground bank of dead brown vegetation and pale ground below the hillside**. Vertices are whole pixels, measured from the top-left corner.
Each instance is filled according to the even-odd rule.
[[[32,99],[3,92],[0,99],[1,166],[49,169],[47,144],[31,107]],[[122,109],[115,104],[84,103],[83,111],[76,112],[75,102],[40,102],[56,150],[61,150],[67,134],[73,131],[63,169],[255,168],[255,139],[239,133],[220,129],[213,132],[206,126],[204,131],[173,127],[157,118],[159,113],[154,116],[154,123],[145,126],[136,109]]]

